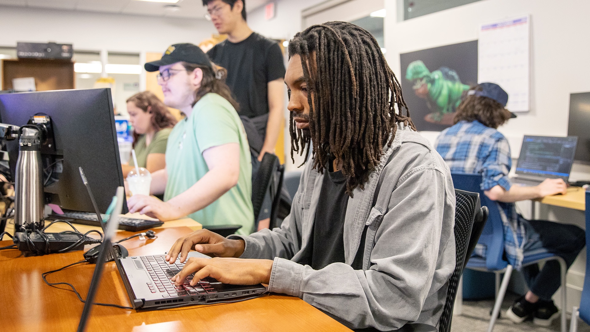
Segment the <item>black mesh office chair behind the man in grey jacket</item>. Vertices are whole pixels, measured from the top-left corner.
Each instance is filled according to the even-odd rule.
[[[473,252],[487,220],[487,207],[480,207],[478,193],[455,189],[455,199],[455,227],[453,229],[456,248],[455,269],[449,281],[444,308],[442,309],[441,318],[438,320],[438,329],[428,324],[412,323],[394,330],[396,332],[448,332],[451,330],[455,297],[467,261],[466,257],[471,256],[471,252]],[[362,328],[355,331],[377,330],[375,328]]]

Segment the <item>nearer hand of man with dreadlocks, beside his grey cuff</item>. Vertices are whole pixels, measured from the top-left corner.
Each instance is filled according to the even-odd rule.
[[[215,278],[224,284],[255,285],[268,284],[273,269],[273,261],[270,259],[242,259],[242,258],[197,258],[191,257],[182,268],[172,277],[176,286],[182,285],[186,277],[193,272],[195,276],[191,285],[208,276]]]

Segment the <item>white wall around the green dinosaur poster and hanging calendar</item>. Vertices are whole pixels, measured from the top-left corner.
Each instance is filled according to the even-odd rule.
[[[531,110],[501,126],[518,157],[522,136],[565,136],[568,129],[569,94],[590,91],[590,1],[483,0],[434,14],[398,22],[398,1],[386,0],[385,47],[389,66],[401,76],[399,54],[478,39],[482,23],[522,14],[531,15]],[[434,139],[437,133],[424,133]],[[572,180],[590,179],[590,168],[574,165]],[[537,218],[574,223],[584,227],[582,211],[537,204]],[[530,203],[517,204],[530,217]],[[579,304],[584,276],[582,253],[568,272],[568,308]]]

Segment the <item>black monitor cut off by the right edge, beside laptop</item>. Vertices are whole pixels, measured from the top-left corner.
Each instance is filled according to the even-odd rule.
[[[578,136],[574,160],[590,164],[590,92],[569,95],[568,135]]]

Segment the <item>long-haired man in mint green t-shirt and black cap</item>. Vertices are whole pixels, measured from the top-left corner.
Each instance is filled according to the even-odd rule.
[[[250,234],[250,147],[225,69],[193,44],[171,45],[145,69],[159,71],[165,105],[186,118],[168,136],[166,168],[152,173],[150,193],[163,193],[164,201],[134,195],[127,200],[129,211],[163,221],[188,216],[204,226],[231,222],[242,226],[238,234]]]

